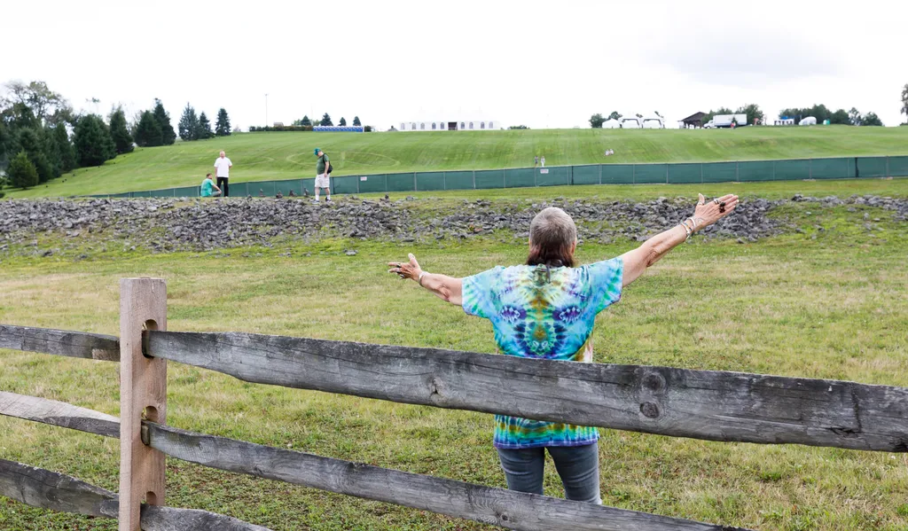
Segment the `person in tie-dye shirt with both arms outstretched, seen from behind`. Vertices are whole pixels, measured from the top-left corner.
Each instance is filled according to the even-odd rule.
[[[523,265],[492,268],[462,279],[432,274],[409,262],[390,262],[390,273],[419,282],[440,299],[491,321],[498,351],[528,359],[590,363],[597,314],[621,298],[622,289],[668,251],[724,218],[737,206],[729,194],[706,202],[693,215],[633,251],[587,265],[574,258],[577,226],[561,209],[540,211],[529,225]],[[508,488],[543,493],[546,452],[555,461],[568,499],[601,503],[598,430],[509,415],[495,416],[493,446]]]

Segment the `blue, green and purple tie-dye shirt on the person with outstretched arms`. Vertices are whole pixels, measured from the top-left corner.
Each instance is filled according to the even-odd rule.
[[[578,268],[515,266],[463,279],[463,309],[492,321],[498,349],[510,356],[593,360],[596,315],[621,298],[620,257]],[[495,416],[495,447],[578,447],[596,428]]]

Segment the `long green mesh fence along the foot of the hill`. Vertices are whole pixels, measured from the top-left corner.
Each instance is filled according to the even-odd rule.
[[[761,182],[800,179],[854,179],[908,176],[908,156],[841,157],[745,162],[682,162],[675,164],[585,164],[548,168],[509,168],[457,172],[380,173],[331,178],[333,193],[429,192],[560,186],[568,184],[646,184],[696,182]],[[232,182],[232,197],[284,197],[292,191],[314,193],[314,179]],[[163,190],[96,194],[88,197],[198,197],[199,186]]]

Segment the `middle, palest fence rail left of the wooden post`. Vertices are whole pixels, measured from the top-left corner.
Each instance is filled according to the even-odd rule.
[[[78,429],[104,437],[120,437],[119,418],[47,398],[0,391],[0,415]]]

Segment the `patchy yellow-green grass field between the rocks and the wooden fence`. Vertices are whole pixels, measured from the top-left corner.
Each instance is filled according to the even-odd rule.
[[[757,185],[749,186],[754,186],[749,193],[758,193]],[[908,196],[904,181],[770,186],[768,194],[775,196]],[[694,192],[655,186],[565,192],[606,200],[624,197],[622,190],[644,196]],[[522,202],[543,197],[539,193],[508,191],[491,201]],[[443,210],[453,202],[417,204]],[[873,231],[864,227],[864,213],[880,219],[873,221]],[[773,215],[795,222],[804,233],[745,245],[697,238],[660,261],[599,316],[596,361],[908,386],[904,223],[893,221],[891,211],[815,203],[791,203]],[[596,261],[631,245],[584,244],[578,253],[582,262]],[[359,254],[344,255],[350,248]],[[287,251],[291,256],[282,256]],[[427,270],[454,275],[516,263],[526,252],[494,238],[415,248],[381,241],[287,241],[272,249],[212,253],[89,253],[82,261],[16,256],[13,249],[0,254],[0,322],[116,334],[118,280],[153,276],[168,281],[172,330],[242,330],[492,352],[488,323],[443,305],[415,284],[401,286],[385,272],[385,262],[408,251]],[[232,280],[224,285],[223,278]],[[14,351],[0,351],[0,364],[0,389],[118,414],[114,364]],[[168,372],[173,426],[504,486],[488,415],[246,384],[175,363]],[[117,487],[116,440],[10,418],[0,418],[0,434],[0,457]],[[765,531],[908,528],[904,455],[724,444],[607,429],[601,434],[602,496],[610,506]],[[174,459],[167,467],[168,505],[221,512],[280,531],[487,528]],[[551,462],[546,492],[563,496]],[[113,531],[116,526],[0,498],[0,528]]]

